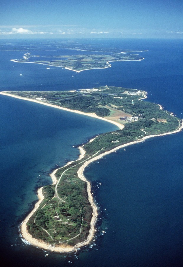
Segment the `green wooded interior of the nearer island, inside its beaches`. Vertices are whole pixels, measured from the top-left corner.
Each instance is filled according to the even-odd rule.
[[[181,122],[170,112],[160,109],[159,105],[139,100],[145,96],[145,92],[133,89],[104,86],[80,91],[11,93],[31,99],[38,98],[69,109],[94,112],[101,117],[110,118],[111,113],[124,112],[122,120],[117,118],[118,122],[125,125],[122,130],[99,135],[84,145],[86,154],[83,159],[57,171],[57,179],[61,177],[57,186],[58,196],[55,194],[55,186],[44,187],[45,198],[27,225],[32,236],[48,243],[67,242],[74,245],[85,240],[89,233],[92,208],[88,201],[86,183],[77,175],[78,168],[84,161],[94,154],[140,140],[144,136],[173,132]]]

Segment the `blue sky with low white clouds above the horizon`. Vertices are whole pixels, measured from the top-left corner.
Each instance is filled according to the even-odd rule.
[[[183,0],[1,0],[0,38],[183,38]]]

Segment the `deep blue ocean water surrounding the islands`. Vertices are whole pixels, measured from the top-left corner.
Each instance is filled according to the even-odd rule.
[[[10,61],[27,52],[12,51],[15,47],[20,50],[23,44],[30,49],[34,42],[49,41],[6,42],[0,42],[9,50],[0,49],[1,91],[123,86],[146,90],[149,101],[183,117],[182,40],[80,40],[121,51],[148,50],[139,53],[145,58],[142,61],[114,62],[111,68],[81,73]],[[51,48],[55,48],[53,43]],[[57,165],[77,158],[79,152],[73,146],[116,127],[2,95],[0,103],[0,242],[7,262],[15,266],[183,265],[182,132],[148,139],[87,167],[85,175],[100,211],[96,241],[76,255],[49,252],[45,257],[43,250],[26,246],[18,232],[37,199],[37,187],[51,183],[49,173]]]

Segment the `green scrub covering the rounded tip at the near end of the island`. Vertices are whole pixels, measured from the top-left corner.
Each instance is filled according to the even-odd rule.
[[[74,245],[86,239],[92,216],[86,183],[80,179],[65,179],[59,184],[59,201],[55,186],[45,186],[44,201],[27,223],[30,234],[49,243]],[[78,236],[77,236],[78,235]],[[74,238],[77,237],[77,238]],[[72,239],[73,238],[73,239]]]

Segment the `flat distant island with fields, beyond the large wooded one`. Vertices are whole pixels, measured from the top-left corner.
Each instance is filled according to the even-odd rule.
[[[87,51],[89,52],[89,51]],[[97,51],[95,51],[96,53]],[[137,51],[138,52],[138,51]],[[140,51],[145,52],[145,51]],[[139,54],[131,54],[132,52],[97,52],[97,54],[77,54],[77,55],[32,55],[25,53],[21,59],[11,59],[20,63],[37,63],[48,66],[62,67],[77,73],[91,69],[110,68],[110,62],[114,61],[134,61],[143,60]],[[49,67],[47,68],[49,69]]]

